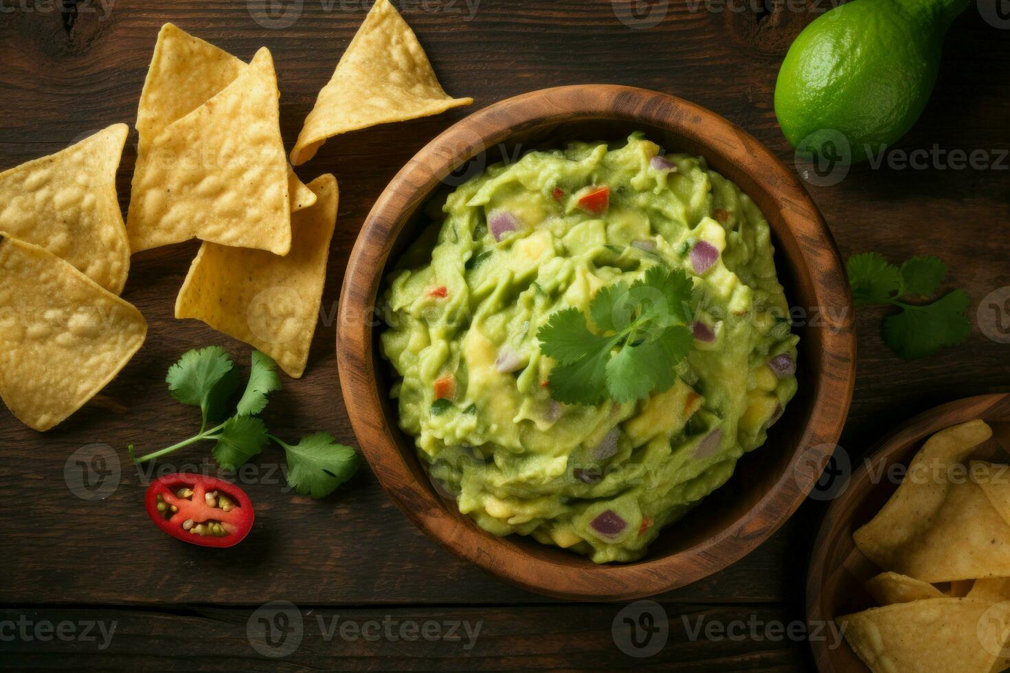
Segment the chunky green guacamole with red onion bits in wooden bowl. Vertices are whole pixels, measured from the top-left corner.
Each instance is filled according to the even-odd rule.
[[[640,133],[534,151],[429,217],[390,274],[383,351],[436,486],[495,535],[634,560],[764,443],[796,392],[769,225],[702,157],[663,155]],[[553,400],[559,364],[538,330],[658,264],[693,283],[694,338],[673,385],[623,404]]]

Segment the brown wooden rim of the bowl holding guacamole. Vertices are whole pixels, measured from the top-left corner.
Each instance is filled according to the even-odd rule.
[[[485,148],[547,122],[593,119],[669,129],[709,147],[706,136],[714,129],[723,140],[719,151],[730,155],[731,161],[741,165],[756,161],[760,165],[745,173],[780,208],[786,227],[802,232],[796,238],[803,266],[819,268],[830,278],[812,286],[817,306],[840,304],[843,313],[830,330],[821,332],[825,357],[816,385],[808,392],[815,399],[797,448],[782,476],[745,514],[686,550],[630,564],[597,565],[585,559],[574,572],[570,564],[534,558],[476,526],[461,526],[430,485],[414,478],[384,419],[372,332],[383,270],[406,224],[406,213],[413,213],[446,176]],[[617,85],[575,85],[533,91],[477,111],[431,140],[400,170],[366,218],[348,259],[336,348],[343,399],[362,451],[394,503],[418,528],[457,556],[524,589],[562,598],[629,600],[689,584],[730,565],[767,540],[800,506],[830,458],[851,401],[852,314],[851,293],[826,224],[795,172],[756,139],[723,117],[668,94]]]

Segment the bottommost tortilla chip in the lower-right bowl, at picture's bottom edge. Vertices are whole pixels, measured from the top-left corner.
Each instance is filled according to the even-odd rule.
[[[1001,662],[1010,603],[930,598],[838,618],[845,640],[875,673],[992,671]]]

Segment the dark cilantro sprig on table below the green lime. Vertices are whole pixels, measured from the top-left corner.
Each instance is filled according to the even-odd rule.
[[[877,252],[848,258],[848,282],[856,306],[889,305],[901,311],[884,320],[884,342],[906,360],[955,346],[972,334],[967,312],[971,299],[963,290],[930,304],[908,300],[933,297],[946,277],[946,264],[932,256],[912,257],[900,267]]]

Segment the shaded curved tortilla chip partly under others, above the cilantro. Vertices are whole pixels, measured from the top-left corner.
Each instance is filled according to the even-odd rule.
[[[292,218],[287,256],[204,243],[176,301],[176,318],[255,346],[294,378],[308,361],[336,223],[336,179],[320,176],[309,189],[318,201]]]

